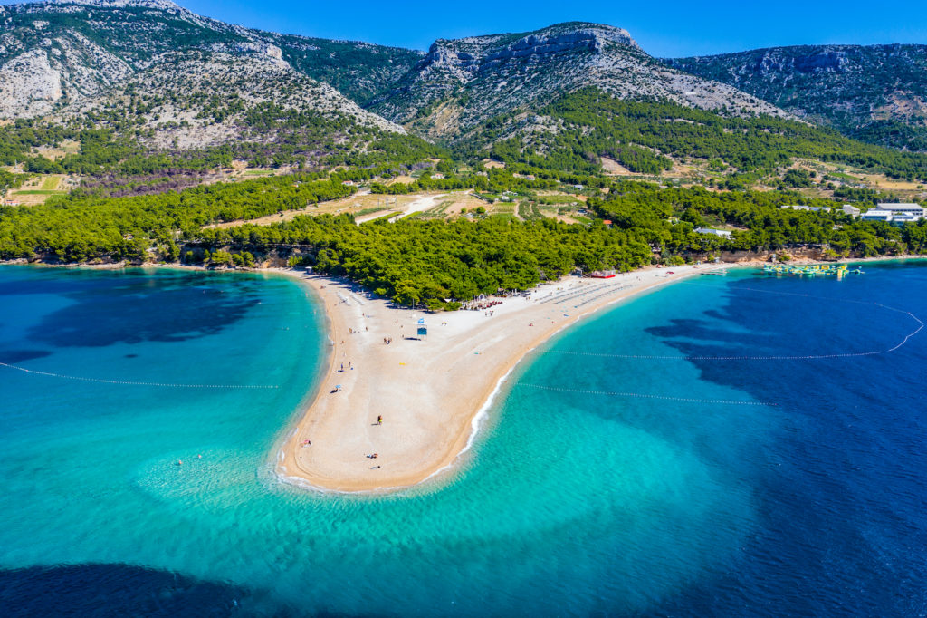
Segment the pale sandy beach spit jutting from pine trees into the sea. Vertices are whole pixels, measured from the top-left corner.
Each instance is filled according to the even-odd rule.
[[[395,308],[347,280],[301,277],[324,303],[329,367],[286,436],[277,474],[319,490],[375,492],[450,470],[477,413],[529,351],[603,307],[716,269],[565,277],[522,296],[489,298],[477,310],[437,314]],[[417,334],[420,319],[425,337]]]

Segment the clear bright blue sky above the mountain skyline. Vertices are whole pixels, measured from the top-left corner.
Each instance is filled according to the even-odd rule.
[[[175,0],[178,1],[178,0]],[[14,4],[2,0],[2,4]],[[773,45],[927,44],[927,3],[779,0],[179,0],[200,15],[253,28],[426,49],[436,38],[524,32],[560,21],[619,26],[650,54],[679,57]]]

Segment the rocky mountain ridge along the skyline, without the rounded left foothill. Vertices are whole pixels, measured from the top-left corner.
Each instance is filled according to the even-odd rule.
[[[276,65],[281,87],[315,92],[326,109],[331,93],[283,84],[298,75],[328,84],[344,96],[348,116],[372,121],[360,106],[383,119],[372,121],[381,129],[401,125],[444,144],[460,144],[514,112],[528,113],[530,124],[557,97],[594,87],[722,115],[799,118],[872,143],[927,149],[927,45],[800,45],[661,59],[627,30],[566,21],[438,39],[422,52],[249,29],[170,0],[0,6],[0,119],[67,115],[96,98],[120,97],[139,75],[165,80],[165,58],[196,72],[184,55],[210,54],[243,67],[253,62],[265,77],[260,67]]]

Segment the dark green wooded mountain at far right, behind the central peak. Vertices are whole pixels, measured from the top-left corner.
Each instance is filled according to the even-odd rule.
[[[927,45],[801,45],[665,62],[845,135],[927,151]]]

